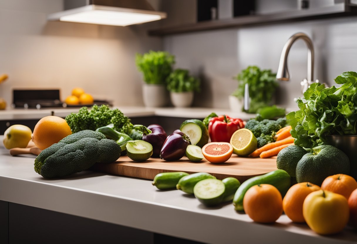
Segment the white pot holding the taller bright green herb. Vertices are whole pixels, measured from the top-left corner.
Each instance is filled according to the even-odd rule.
[[[165,85],[142,85],[142,98],[146,107],[164,107],[169,101],[169,92]]]

